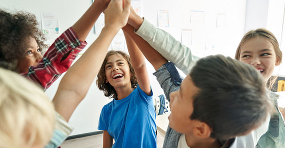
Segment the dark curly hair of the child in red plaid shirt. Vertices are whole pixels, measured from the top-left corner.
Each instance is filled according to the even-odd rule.
[[[7,12],[0,9],[0,66],[16,70],[17,60],[25,55],[29,37],[33,37],[43,54],[47,48],[34,14],[26,11]]]

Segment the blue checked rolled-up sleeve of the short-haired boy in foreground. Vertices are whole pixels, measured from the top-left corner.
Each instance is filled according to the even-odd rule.
[[[169,94],[173,91],[177,91],[182,82],[182,78],[175,65],[172,62],[165,63],[158,68],[153,75],[156,76],[167,100],[170,102]]]

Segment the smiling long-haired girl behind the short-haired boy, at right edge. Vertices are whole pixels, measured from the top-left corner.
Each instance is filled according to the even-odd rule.
[[[275,79],[271,79],[275,65],[282,60],[282,52],[276,37],[264,28],[248,31],[241,39],[235,53],[235,59],[253,65],[263,76],[263,80],[272,88]],[[279,95],[271,92],[275,102],[275,113],[271,116],[268,130],[263,134],[256,147],[285,147],[285,124],[277,105]]]

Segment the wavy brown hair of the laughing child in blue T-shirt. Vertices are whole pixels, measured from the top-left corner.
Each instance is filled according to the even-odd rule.
[[[103,61],[103,64],[100,68],[100,71],[97,74],[96,84],[97,84],[98,88],[104,92],[105,96],[108,96],[109,98],[117,99],[118,96],[117,96],[116,90],[114,89],[114,87],[109,82],[106,83],[106,74],[105,74],[105,66],[106,66],[107,59],[110,55],[113,55],[113,54],[121,54],[122,57],[127,61],[128,66],[129,66],[129,71],[131,73],[130,83],[131,83],[132,88],[137,87],[137,78],[135,76],[133,67],[130,64],[130,57],[128,54],[126,54],[122,51],[119,51],[119,50],[110,50],[107,52],[105,59]]]

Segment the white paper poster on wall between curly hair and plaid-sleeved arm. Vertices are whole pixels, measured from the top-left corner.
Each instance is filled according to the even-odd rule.
[[[44,34],[59,34],[58,19],[54,12],[41,12],[41,26]]]

